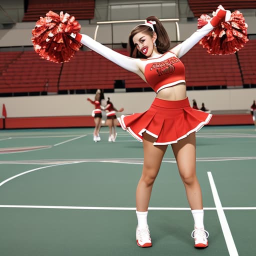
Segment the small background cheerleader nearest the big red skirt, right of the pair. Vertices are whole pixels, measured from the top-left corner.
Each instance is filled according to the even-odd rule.
[[[106,125],[109,127],[109,136],[108,136],[108,142],[114,142],[116,138],[116,129],[115,127],[118,124],[116,112],[123,111],[123,108],[120,108],[117,110],[113,103],[110,101],[109,97],[106,101],[106,106],[104,107],[104,110],[106,111]]]

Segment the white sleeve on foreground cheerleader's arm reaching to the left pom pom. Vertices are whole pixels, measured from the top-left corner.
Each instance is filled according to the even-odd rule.
[[[136,58],[131,58],[125,56],[121,53],[118,53],[107,46],[93,40],[86,34],[81,34],[81,43],[87,46],[88,48],[92,49],[93,51],[97,52],[98,54],[102,55],[103,57],[109,59],[110,61],[114,62],[115,64],[119,65],[120,67],[134,72],[138,75],[141,75],[141,71],[139,70]]]

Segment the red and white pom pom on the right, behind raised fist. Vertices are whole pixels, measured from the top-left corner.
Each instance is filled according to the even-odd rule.
[[[197,26],[201,27],[211,17],[201,15]],[[205,35],[199,44],[210,54],[233,54],[248,41],[247,24],[241,12],[235,10],[228,21],[222,21]]]

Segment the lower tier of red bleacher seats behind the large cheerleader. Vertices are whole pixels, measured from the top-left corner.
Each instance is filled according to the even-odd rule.
[[[116,51],[127,55],[126,49]],[[186,85],[210,88],[256,84],[255,58],[255,39],[230,55],[210,55],[197,44],[181,57]],[[0,52],[0,74],[0,93],[114,89],[115,80],[124,80],[125,88],[149,88],[138,75],[84,50],[62,64],[41,59],[34,51]]]

